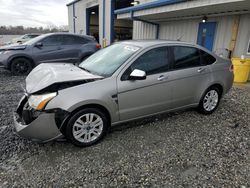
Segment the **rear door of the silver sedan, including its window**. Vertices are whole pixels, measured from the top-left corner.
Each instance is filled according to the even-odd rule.
[[[211,82],[211,69],[202,62],[200,49],[190,46],[171,46],[173,108],[198,103]]]

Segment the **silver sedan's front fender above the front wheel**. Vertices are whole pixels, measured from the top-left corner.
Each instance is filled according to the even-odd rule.
[[[62,110],[72,112],[82,106],[100,105],[110,113],[111,122],[116,122],[119,121],[116,94],[116,80],[110,77],[59,91],[57,97],[48,103],[46,110],[57,106]],[[70,100],[65,100],[66,98]],[[88,100],[85,100],[86,98]]]

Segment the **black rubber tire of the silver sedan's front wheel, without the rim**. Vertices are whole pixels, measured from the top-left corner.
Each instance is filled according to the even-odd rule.
[[[101,120],[102,120],[102,130],[100,131],[100,135],[98,135],[94,140],[90,139],[88,142],[86,142],[86,141],[80,141],[80,139],[84,139],[85,140],[85,136],[87,134],[90,135],[90,137],[91,137],[91,135],[94,136],[94,133],[91,133],[91,131],[94,128],[92,128],[92,129],[90,128],[89,130],[87,130],[88,125],[83,124],[83,126],[82,126],[82,125],[78,124],[78,126],[82,126],[82,127],[79,128],[78,130],[76,130],[76,128],[78,128],[78,127],[75,126],[75,124],[77,124],[76,122],[79,120],[79,118],[83,118],[81,120],[82,120],[82,122],[84,122],[84,117],[83,116],[85,116],[87,114],[95,114],[98,117],[100,117]],[[94,117],[93,117],[93,120],[94,120]],[[97,120],[97,118],[95,120]],[[90,126],[91,125],[89,125],[89,127]],[[98,143],[101,139],[103,139],[103,137],[108,132],[108,128],[109,128],[109,121],[108,121],[106,115],[101,110],[96,109],[96,108],[85,108],[85,109],[80,110],[79,112],[75,113],[69,119],[68,124],[66,125],[66,129],[65,129],[65,136],[75,146],[78,146],[78,147],[87,147],[87,146],[94,145],[94,144]],[[75,133],[77,131],[86,131],[86,133],[83,134],[82,136],[80,136],[80,138],[76,139],[75,136],[74,136],[74,133],[73,133],[74,131],[75,131]],[[98,134],[98,133],[96,133],[96,134]],[[78,134],[78,135],[76,135],[76,136],[79,136],[79,135],[81,135],[81,133]],[[87,136],[87,137],[89,138],[89,136]]]

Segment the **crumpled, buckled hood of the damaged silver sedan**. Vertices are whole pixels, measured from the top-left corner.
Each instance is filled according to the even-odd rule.
[[[35,67],[27,76],[26,91],[31,94],[55,83],[101,78],[103,77],[88,73],[72,64],[44,63]]]

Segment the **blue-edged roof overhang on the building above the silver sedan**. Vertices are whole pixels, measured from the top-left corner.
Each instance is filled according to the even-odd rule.
[[[118,19],[133,15],[152,22],[244,13],[250,13],[250,0],[159,0],[115,11]]]

